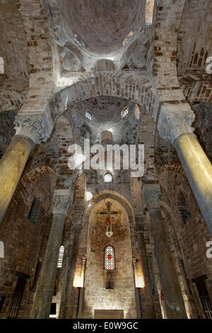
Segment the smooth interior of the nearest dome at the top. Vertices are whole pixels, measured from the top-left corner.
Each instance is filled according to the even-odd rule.
[[[139,28],[141,0],[63,0],[63,16],[70,35],[78,35],[90,52],[105,54],[123,47],[123,40]]]

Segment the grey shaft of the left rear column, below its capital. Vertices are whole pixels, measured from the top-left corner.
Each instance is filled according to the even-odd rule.
[[[52,227],[45,252],[45,259],[42,263],[42,269],[37,286],[37,293],[33,308],[33,318],[49,318],[54,281],[57,273],[59,247],[61,245],[61,238],[64,229],[64,219],[64,214],[53,215]]]

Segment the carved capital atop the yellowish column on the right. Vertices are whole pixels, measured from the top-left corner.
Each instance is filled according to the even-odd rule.
[[[160,111],[158,120],[158,131],[163,139],[170,140],[172,143],[182,134],[193,133],[191,127],[195,115],[193,112],[167,112],[163,108]]]

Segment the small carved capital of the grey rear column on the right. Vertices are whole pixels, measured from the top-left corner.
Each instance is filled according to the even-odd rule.
[[[142,196],[143,200],[146,202],[148,210],[160,208],[160,185],[143,184]]]

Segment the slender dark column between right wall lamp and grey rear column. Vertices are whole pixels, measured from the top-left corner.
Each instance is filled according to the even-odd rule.
[[[151,276],[148,267],[148,257],[146,254],[146,245],[143,237],[143,231],[137,231],[138,240],[139,240],[139,249],[141,252],[141,266],[144,275],[144,297],[145,297],[145,313],[146,319],[154,319],[155,318],[155,307],[153,300],[153,290],[151,285]]]

